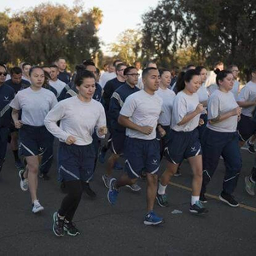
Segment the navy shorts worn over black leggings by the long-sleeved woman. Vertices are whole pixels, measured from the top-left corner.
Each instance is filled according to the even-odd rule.
[[[58,151],[59,181],[90,180],[94,172],[95,157],[93,143],[85,146],[60,143]]]

